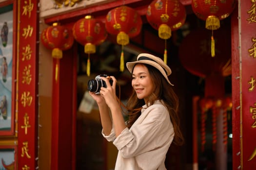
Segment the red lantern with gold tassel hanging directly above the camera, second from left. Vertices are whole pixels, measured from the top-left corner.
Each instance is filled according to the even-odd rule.
[[[75,39],[84,45],[84,52],[88,54],[87,75],[90,76],[90,54],[96,52],[96,46],[104,42],[107,32],[104,23],[92,16],[79,19],[73,26]]]

